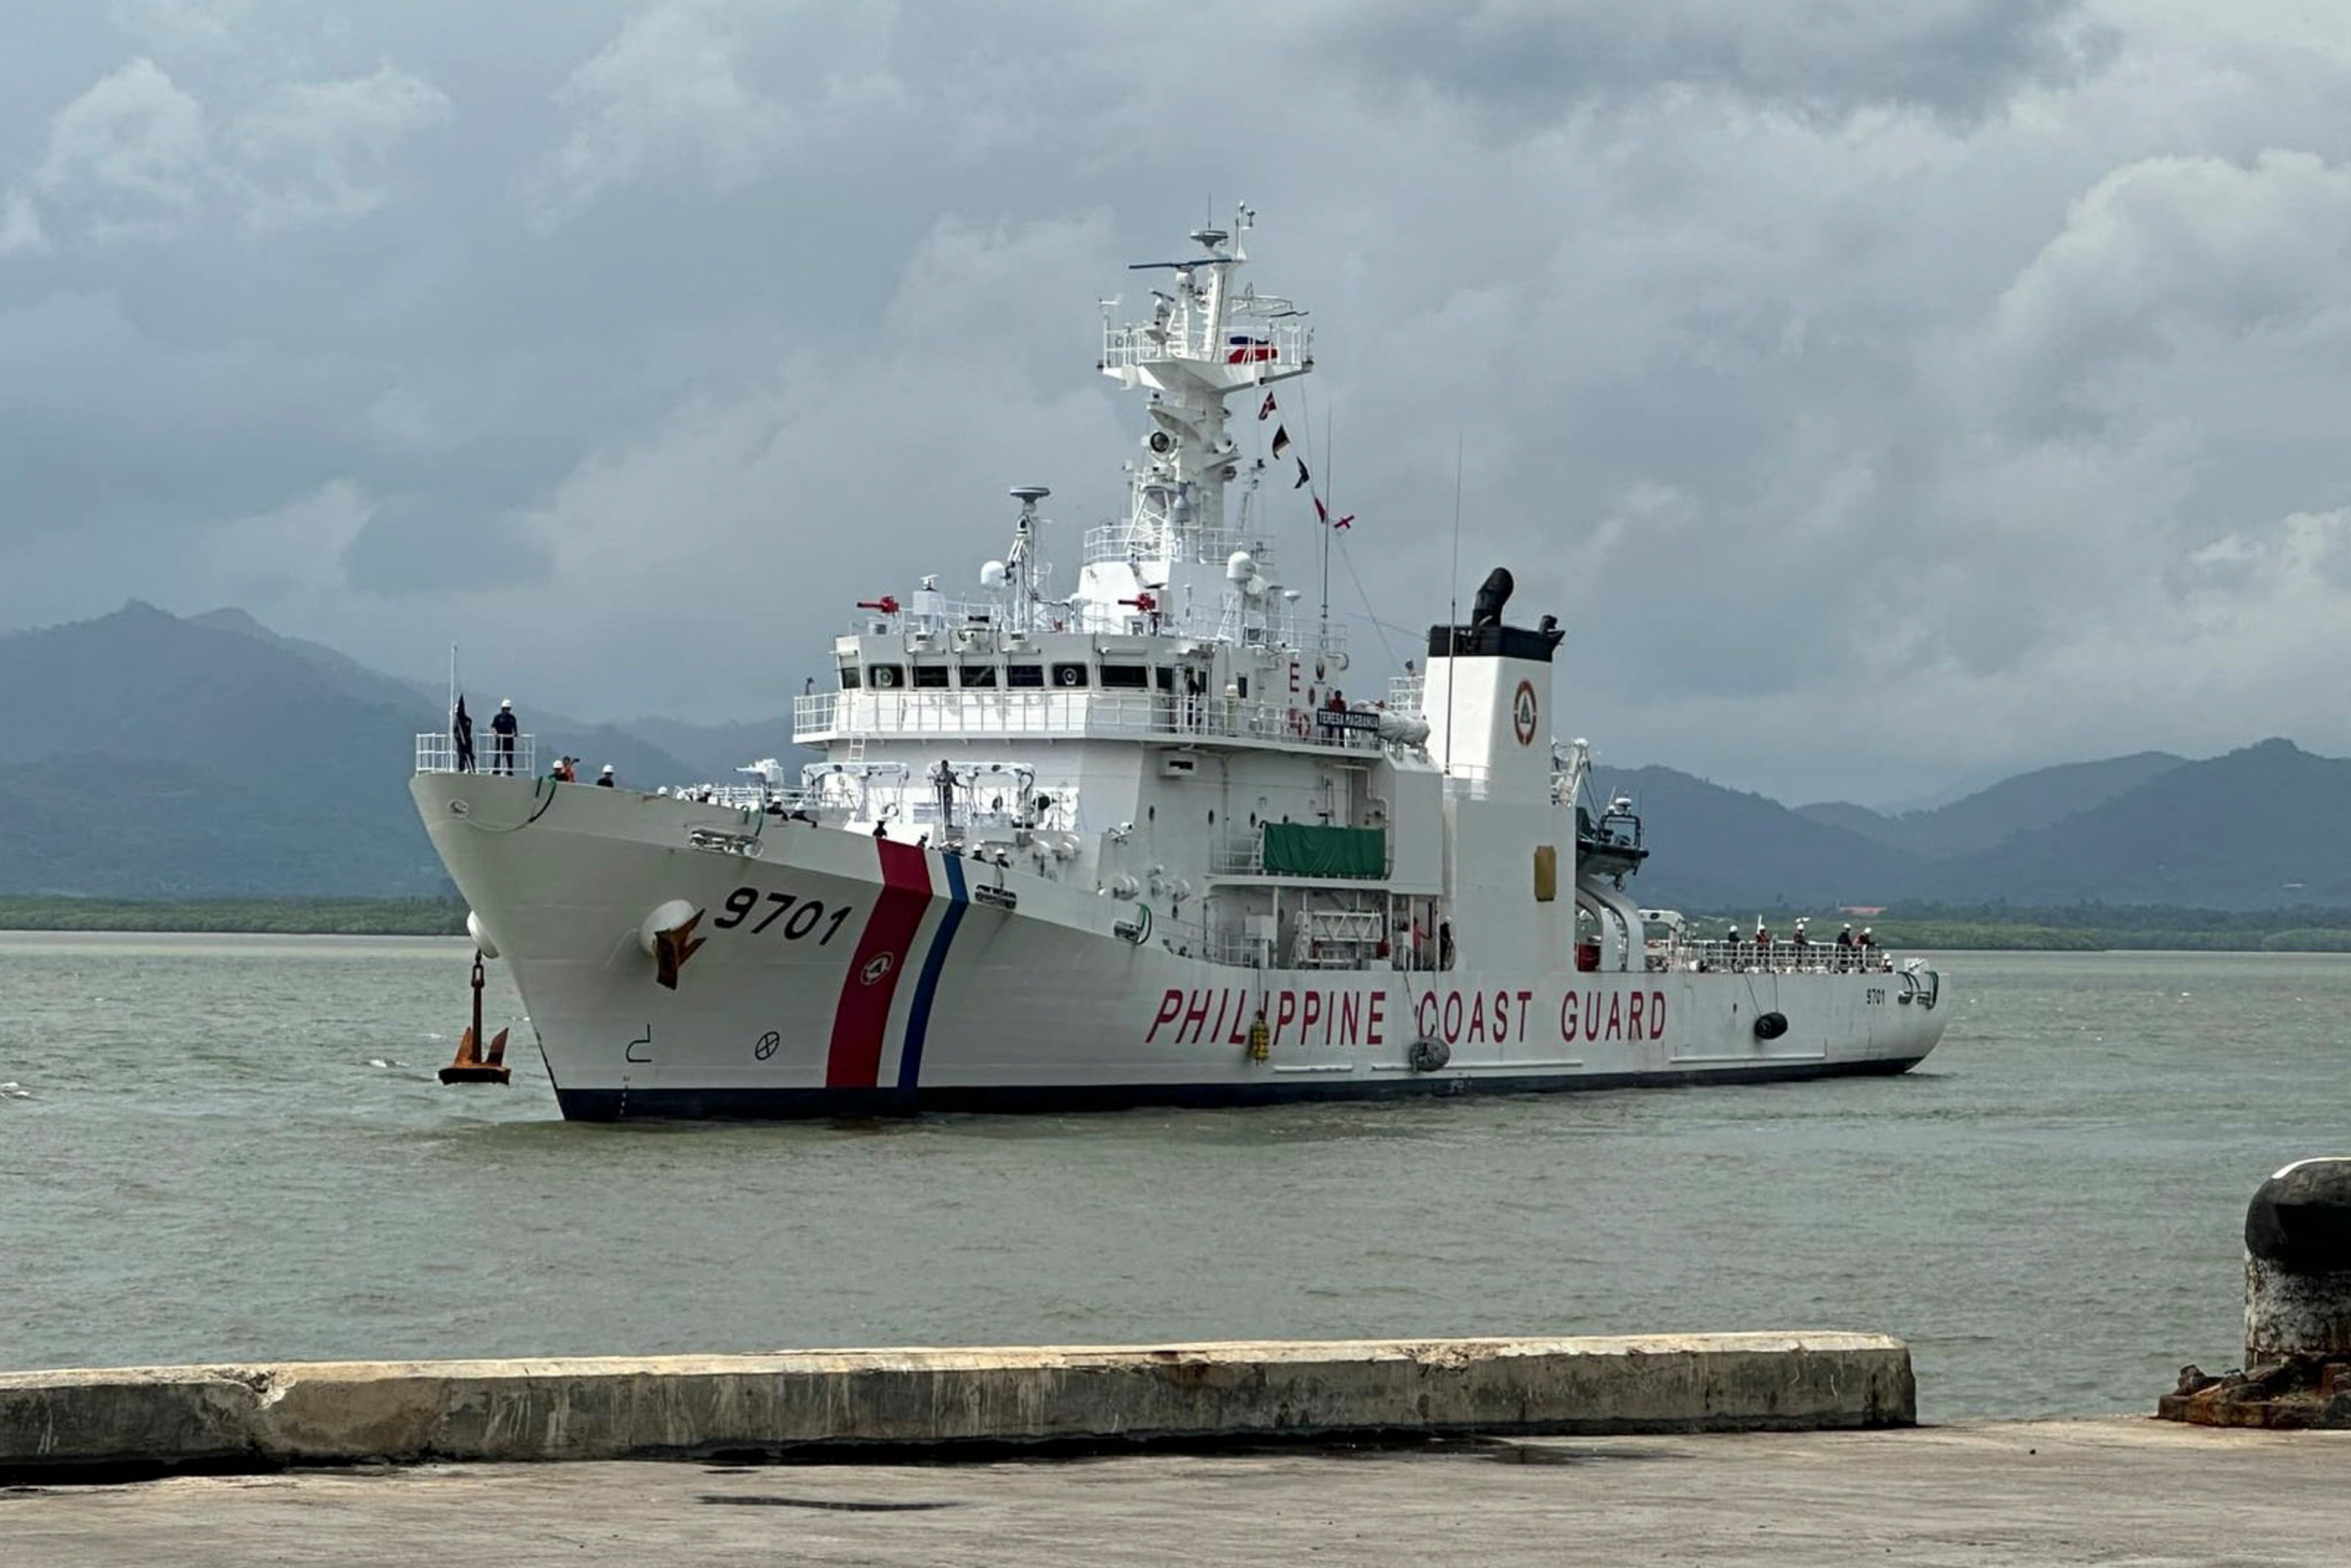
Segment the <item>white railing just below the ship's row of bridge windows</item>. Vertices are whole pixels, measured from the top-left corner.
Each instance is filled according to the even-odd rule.
[[[1279,741],[1378,752],[1378,715],[1284,708],[1180,691],[813,691],[792,701],[792,741],[865,736],[1006,736],[1164,741]]]

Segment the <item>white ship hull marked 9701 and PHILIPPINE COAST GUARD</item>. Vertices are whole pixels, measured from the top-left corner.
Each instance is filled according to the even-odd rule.
[[[1902,1072],[1942,1034],[1890,971],[1244,969],[1183,952],[1180,910],[1020,863],[548,780],[414,795],[574,1119],[1756,1084]],[[668,987],[644,938],[682,912]]]

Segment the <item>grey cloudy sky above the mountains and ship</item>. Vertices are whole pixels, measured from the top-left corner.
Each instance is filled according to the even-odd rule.
[[[1119,508],[1093,301],[1248,200],[1357,691],[1460,451],[1603,762],[2342,755],[2346,66],[2306,0],[21,0],[0,628],[769,715],[1006,484]]]

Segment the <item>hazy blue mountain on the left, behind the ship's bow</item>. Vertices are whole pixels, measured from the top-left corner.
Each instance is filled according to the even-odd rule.
[[[444,703],[235,611],[132,602],[5,635],[0,891],[447,893],[407,792],[414,736],[447,722]],[[534,729],[541,757],[696,776],[609,726]]]

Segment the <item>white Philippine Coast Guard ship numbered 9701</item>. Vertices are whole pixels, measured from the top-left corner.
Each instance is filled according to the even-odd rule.
[[[649,795],[541,778],[529,736],[513,773],[418,738],[416,806],[567,1117],[1523,1093],[1933,1051],[1918,959],[1639,907],[1641,823],[1580,804],[1561,630],[1502,618],[1507,571],[1382,701],[1342,696],[1345,637],[1284,588],[1260,477],[1300,512],[1312,491],[1230,428],[1239,395],[1265,442],[1272,388],[1314,369],[1305,313],[1244,282],[1246,228],[1147,263],[1147,320],[1103,308],[1100,369],[1150,423],[1074,585],[1046,489],[1011,491],[978,597],[919,578],[835,639],[837,686],[795,708],[825,762]]]

